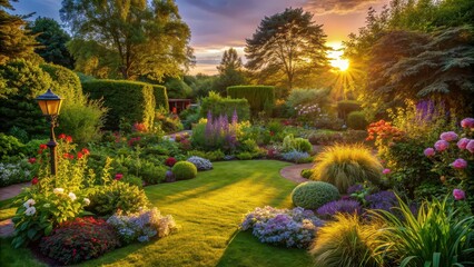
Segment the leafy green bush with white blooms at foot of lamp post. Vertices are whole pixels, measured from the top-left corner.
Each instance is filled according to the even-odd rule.
[[[18,248],[48,236],[55,226],[78,216],[90,200],[63,188],[40,191],[38,186],[32,186],[20,194],[16,202],[21,204],[12,218],[12,245]]]

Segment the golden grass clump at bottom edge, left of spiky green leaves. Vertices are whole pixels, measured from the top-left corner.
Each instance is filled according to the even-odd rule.
[[[319,228],[318,237],[309,250],[315,266],[359,267],[383,266],[376,253],[377,230],[382,225],[363,225],[357,215],[336,215],[335,221]]]

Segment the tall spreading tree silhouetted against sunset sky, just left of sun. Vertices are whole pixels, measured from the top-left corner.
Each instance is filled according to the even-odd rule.
[[[253,38],[246,40],[246,67],[263,77],[283,76],[292,89],[307,70],[327,66],[328,48],[322,27],[300,8],[265,17]]]

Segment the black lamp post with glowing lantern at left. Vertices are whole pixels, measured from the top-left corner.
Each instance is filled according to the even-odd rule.
[[[47,144],[49,149],[51,150],[51,175],[56,175],[56,170],[58,169],[56,162],[56,142],[55,138],[55,127],[57,126],[57,120],[59,116],[59,110],[61,109],[62,98],[55,95],[51,89],[48,89],[47,92],[37,97],[38,105],[41,108],[42,115],[47,117],[50,122],[50,140]]]

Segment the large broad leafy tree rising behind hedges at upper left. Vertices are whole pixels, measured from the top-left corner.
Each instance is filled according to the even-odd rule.
[[[174,0],[63,0],[60,14],[73,33],[72,56],[107,76],[161,80],[192,62],[190,30]]]

